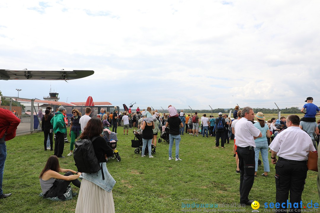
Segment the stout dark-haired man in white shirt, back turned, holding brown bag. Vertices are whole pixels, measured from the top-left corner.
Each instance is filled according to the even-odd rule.
[[[316,150],[311,137],[300,129],[299,124],[297,115],[289,115],[286,123],[288,128],[280,131],[269,146],[271,163],[276,164],[276,202],[280,203],[276,210],[282,212],[287,208],[292,212],[300,211],[309,151]],[[287,206],[289,191],[291,205]]]

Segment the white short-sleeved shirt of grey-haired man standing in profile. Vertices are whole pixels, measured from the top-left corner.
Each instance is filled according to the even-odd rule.
[[[253,136],[258,137],[260,130],[253,126],[247,118],[241,118],[235,125],[236,145],[238,147],[256,147]]]

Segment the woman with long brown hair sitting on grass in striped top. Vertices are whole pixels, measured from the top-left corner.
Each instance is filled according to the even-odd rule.
[[[61,175],[58,172],[65,172],[65,174]],[[44,193],[44,197],[58,196],[59,199],[65,200],[66,197],[63,193],[66,192],[70,182],[80,188],[81,182],[78,180],[80,175],[81,172],[76,172],[71,169],[61,169],[58,157],[54,155],[50,156],[39,176],[40,186]]]

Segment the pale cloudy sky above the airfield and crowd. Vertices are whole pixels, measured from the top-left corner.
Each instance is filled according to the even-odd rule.
[[[0,1],[0,69],[94,70],[0,80],[3,95],[122,106],[301,108],[317,96],[319,1]]]

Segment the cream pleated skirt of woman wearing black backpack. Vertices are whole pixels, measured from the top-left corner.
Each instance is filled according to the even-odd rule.
[[[115,213],[112,192],[82,179],[77,200],[76,213]]]

